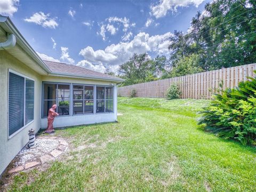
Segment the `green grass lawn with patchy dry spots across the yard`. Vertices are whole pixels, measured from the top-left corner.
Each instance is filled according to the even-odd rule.
[[[256,191],[256,148],[199,129],[206,100],[119,98],[118,123],[58,130],[73,148],[10,191]]]

